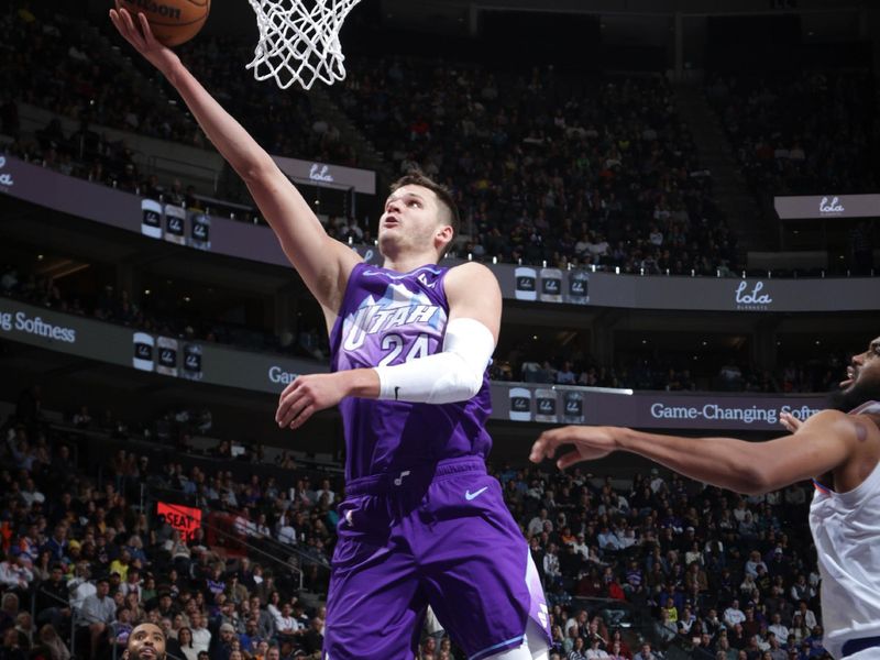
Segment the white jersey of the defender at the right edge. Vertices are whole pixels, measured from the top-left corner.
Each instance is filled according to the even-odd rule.
[[[880,414],[880,403],[850,415],[862,413]],[[822,574],[823,645],[840,659],[850,639],[880,636],[880,463],[847,493],[816,483],[810,530]],[[880,648],[872,651],[880,657]]]

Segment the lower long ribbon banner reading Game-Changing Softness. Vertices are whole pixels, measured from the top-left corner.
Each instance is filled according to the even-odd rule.
[[[154,336],[0,298],[0,339],[118,364],[165,377],[278,394],[326,364]],[[493,419],[602,424],[650,429],[780,431],[781,413],[805,419],[825,395],[674,393],[492,383]]]

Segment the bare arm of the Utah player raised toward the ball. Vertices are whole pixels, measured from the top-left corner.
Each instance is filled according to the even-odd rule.
[[[125,41],[168,79],[211,143],[244,179],[285,254],[330,319],[360,257],[327,235],[309,205],[272,157],[208,94],[177,55],[156,41],[143,14],[136,16],[139,25],[135,25],[135,18],[117,7],[110,10],[110,20]]]

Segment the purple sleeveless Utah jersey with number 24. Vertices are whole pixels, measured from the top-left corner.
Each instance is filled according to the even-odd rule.
[[[397,273],[369,264],[351,272],[330,333],[336,371],[394,365],[443,348],[449,268],[421,266]],[[480,392],[454,404],[413,404],[346,397],[339,404],[345,431],[346,480],[437,463],[485,458],[492,440],[488,370]]]

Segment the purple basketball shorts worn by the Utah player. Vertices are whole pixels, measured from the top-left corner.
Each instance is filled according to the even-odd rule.
[[[481,458],[354,480],[339,506],[324,658],[413,658],[428,605],[469,660],[522,642],[547,604]]]

